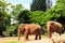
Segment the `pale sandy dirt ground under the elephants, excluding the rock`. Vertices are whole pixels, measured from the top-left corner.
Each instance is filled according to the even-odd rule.
[[[34,40],[35,35],[29,35],[29,41],[24,41],[24,37],[17,40],[17,37],[0,38],[0,43],[52,43],[47,37],[41,38],[41,40]]]

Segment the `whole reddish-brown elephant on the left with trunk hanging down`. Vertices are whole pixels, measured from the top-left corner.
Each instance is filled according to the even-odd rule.
[[[17,31],[18,40],[21,39],[21,35],[20,35],[21,32],[24,33],[25,40],[28,40],[28,34],[36,34],[35,40],[37,40],[39,35],[39,40],[40,40],[42,28],[40,25],[36,25],[36,24],[21,24]]]

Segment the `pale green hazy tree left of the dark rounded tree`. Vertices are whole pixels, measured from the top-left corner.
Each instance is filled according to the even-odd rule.
[[[11,8],[12,8],[12,12],[11,12],[11,14],[12,14],[12,18],[14,19],[14,20],[17,20],[17,17],[18,17],[18,14],[20,14],[20,12],[22,11],[22,9],[23,9],[23,5],[22,4],[15,4],[15,5],[11,5]]]

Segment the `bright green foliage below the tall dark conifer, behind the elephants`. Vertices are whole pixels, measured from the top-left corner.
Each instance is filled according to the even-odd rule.
[[[47,14],[43,11],[34,11],[29,17],[31,23],[44,25],[48,20],[51,19],[52,15]]]

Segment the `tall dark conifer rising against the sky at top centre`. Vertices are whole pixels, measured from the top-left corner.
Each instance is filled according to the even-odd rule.
[[[46,11],[47,10],[46,0],[32,0],[30,10],[31,11]]]

